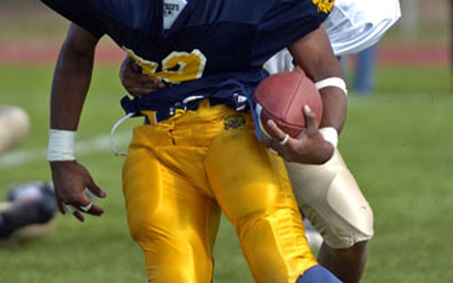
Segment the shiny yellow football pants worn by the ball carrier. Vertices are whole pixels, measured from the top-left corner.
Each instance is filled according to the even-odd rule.
[[[221,211],[257,282],[294,283],[316,265],[283,162],[256,140],[249,114],[203,102],[139,126],[122,177],[149,282],[211,282]]]

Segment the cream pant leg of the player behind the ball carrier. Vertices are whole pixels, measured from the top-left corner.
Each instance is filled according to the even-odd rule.
[[[373,212],[338,151],[323,165],[286,163],[299,207],[326,244],[343,249],[373,236]]]

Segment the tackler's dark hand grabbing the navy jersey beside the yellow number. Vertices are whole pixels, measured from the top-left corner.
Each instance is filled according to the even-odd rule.
[[[127,92],[133,96],[143,96],[165,88],[165,84],[159,79],[143,74],[140,66],[130,56],[127,56],[121,64],[119,79]]]

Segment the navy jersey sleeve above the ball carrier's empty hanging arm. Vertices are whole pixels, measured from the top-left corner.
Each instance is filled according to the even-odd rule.
[[[87,0],[41,0],[57,13],[85,28],[93,36],[100,38],[105,34],[101,15],[97,16]]]

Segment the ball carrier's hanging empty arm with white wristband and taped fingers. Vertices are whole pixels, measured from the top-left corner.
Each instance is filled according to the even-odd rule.
[[[48,160],[52,169],[58,206],[65,213],[64,204],[75,208],[91,203],[85,194],[90,190],[105,197],[90,173],[74,157],[73,143],[82,107],[91,81],[94,53],[99,39],[87,30],[72,24],[69,28],[55,67],[51,93],[50,141]],[[101,215],[97,205],[87,207],[87,213]],[[81,209],[74,215],[84,221]]]

